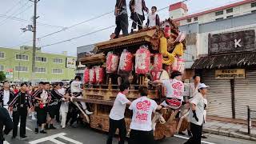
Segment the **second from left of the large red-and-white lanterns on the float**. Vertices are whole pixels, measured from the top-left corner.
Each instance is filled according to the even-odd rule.
[[[131,54],[127,50],[123,50],[120,57],[119,70],[130,72],[132,69],[133,69],[133,54]]]

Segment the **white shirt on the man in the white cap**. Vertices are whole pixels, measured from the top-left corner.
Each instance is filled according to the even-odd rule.
[[[203,120],[204,120],[204,98],[202,97],[201,93],[198,93],[194,96],[194,98],[190,99],[191,105],[195,105],[195,113],[197,114],[198,117],[198,122],[193,118],[193,111],[190,109],[190,114],[189,114],[189,122],[194,123],[195,125],[202,126]]]

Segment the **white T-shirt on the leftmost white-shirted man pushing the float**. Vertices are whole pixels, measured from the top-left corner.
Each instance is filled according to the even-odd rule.
[[[118,93],[117,97],[114,100],[114,105],[110,111],[110,118],[113,120],[120,120],[125,118],[125,111],[126,111],[126,103],[130,102],[125,94],[121,92]]]

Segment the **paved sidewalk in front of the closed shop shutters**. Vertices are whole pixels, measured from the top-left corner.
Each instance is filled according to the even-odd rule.
[[[232,122],[207,120],[203,125],[203,132],[205,133],[256,141],[256,127],[252,127],[250,135],[247,134],[247,131],[246,125]]]

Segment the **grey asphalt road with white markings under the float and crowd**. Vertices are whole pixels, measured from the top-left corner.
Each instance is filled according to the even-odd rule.
[[[104,144],[106,143],[107,135],[98,130],[90,129],[88,126],[79,126],[78,128],[71,128],[68,126],[66,129],[60,128],[58,124],[57,130],[47,130],[47,134],[34,134],[34,121],[27,121],[26,135],[28,138],[11,139],[10,132],[6,136],[6,144]],[[18,133],[19,134],[19,133]],[[205,144],[255,144],[256,142],[246,141],[238,138],[222,137],[214,134],[206,134],[208,138],[202,139]],[[157,144],[182,144],[186,142],[186,136],[175,135],[173,138],[165,138],[156,142]],[[114,144],[118,144],[117,138],[114,138]],[[127,142],[126,142],[127,143]]]

